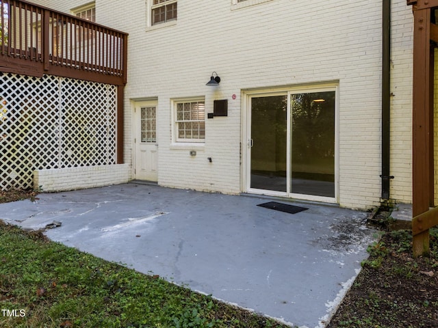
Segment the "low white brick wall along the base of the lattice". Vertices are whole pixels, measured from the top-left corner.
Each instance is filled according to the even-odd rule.
[[[128,181],[127,164],[37,169],[34,171],[34,189],[42,191],[103,187]]]

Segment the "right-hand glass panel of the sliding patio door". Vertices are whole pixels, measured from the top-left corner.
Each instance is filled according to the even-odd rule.
[[[335,197],[335,92],[291,94],[291,193]]]

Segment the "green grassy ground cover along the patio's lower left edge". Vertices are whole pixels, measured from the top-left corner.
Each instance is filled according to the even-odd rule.
[[[286,326],[0,221],[0,327]]]

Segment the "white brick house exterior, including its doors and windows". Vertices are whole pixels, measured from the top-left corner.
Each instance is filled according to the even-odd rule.
[[[87,0],[75,1],[73,8],[63,0],[34,2],[69,14],[90,7]],[[130,0],[118,8],[114,1],[96,0],[94,6],[97,23],[129,33],[121,168],[129,180],[350,208],[381,204],[381,4]],[[394,179],[389,198],[409,203],[413,20],[406,1],[391,1],[390,21],[389,154]],[[205,85],[212,72],[221,79],[214,87]],[[294,104],[306,97],[329,102],[315,98],[321,95],[333,101],[328,121],[318,121],[326,124],[315,130],[293,126],[299,112]],[[227,116],[208,118],[215,100],[227,100]],[[280,122],[274,131],[272,116],[257,114],[262,102],[276,107],[278,115],[285,112],[276,118],[284,126]],[[196,122],[185,117],[185,106],[196,111]],[[309,106],[323,110],[313,102]],[[151,131],[153,124],[156,131]],[[319,131],[331,136],[321,155],[330,163],[320,156],[313,168],[294,157],[300,144],[308,143],[310,153],[320,152],[327,137]],[[275,136],[268,137],[271,132]],[[258,141],[256,134],[265,140]],[[259,142],[266,144],[256,153]],[[143,149],[142,143],[149,148]],[[269,163],[270,156],[275,163]],[[142,175],[142,170],[149,173]],[[73,181],[75,174],[71,170],[64,177]],[[281,186],[275,182],[279,177]],[[312,179],[327,185],[328,192],[315,191],[320,184]],[[306,189],[307,180],[313,188]]]

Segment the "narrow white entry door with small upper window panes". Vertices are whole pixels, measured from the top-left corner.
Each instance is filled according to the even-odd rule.
[[[134,109],[134,178],[157,182],[157,104],[136,102]]]

